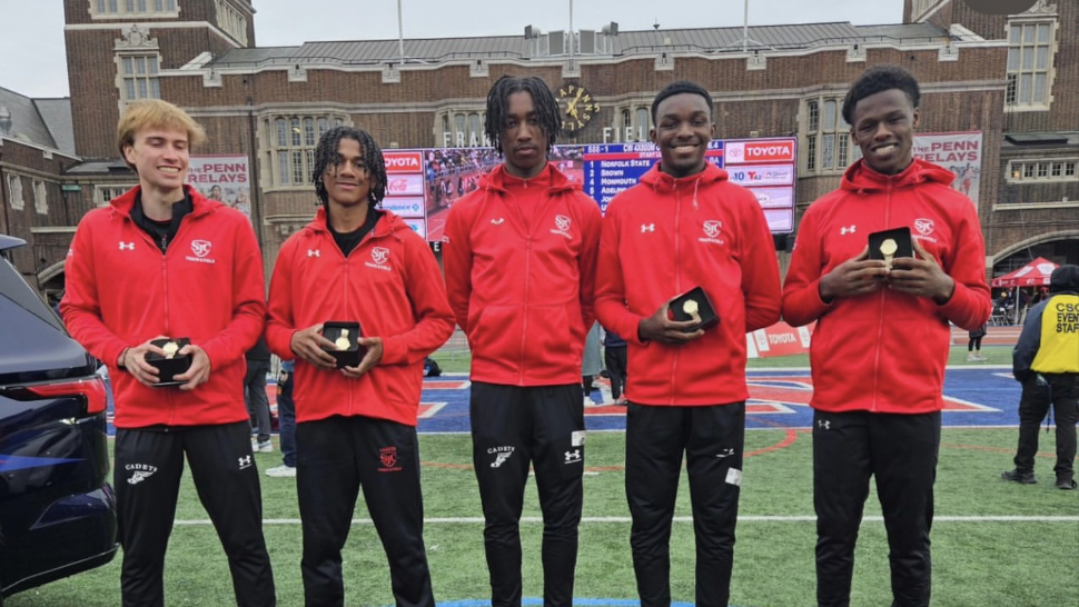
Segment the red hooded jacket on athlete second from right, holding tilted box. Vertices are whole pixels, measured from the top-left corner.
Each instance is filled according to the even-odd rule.
[[[641,341],[642,319],[697,286],[719,312],[719,326],[679,346]],[[652,167],[607,207],[596,315],[630,345],[631,401],[745,400],[745,334],[780,318],[779,263],[756,198],[713,165],[681,179]]]

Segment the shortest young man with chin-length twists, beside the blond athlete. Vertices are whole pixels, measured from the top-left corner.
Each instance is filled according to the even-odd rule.
[[[270,280],[267,341],[296,359],[296,481],[307,607],[344,604],[341,548],[363,487],[389,560],[399,607],[434,607],[424,549],[419,408],[424,358],[453,332],[453,312],[427,242],[377,206],[382,150],[337,127],[315,148],[323,207],[281,246]],[[359,324],[367,349],[336,368],[325,321]]]

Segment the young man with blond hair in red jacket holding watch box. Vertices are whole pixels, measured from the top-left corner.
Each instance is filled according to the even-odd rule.
[[[242,213],[186,186],[204,132],[176,106],[128,106],[120,153],[139,185],[82,218],[66,266],[63,320],[105,361],[116,399],[115,479],[125,607],[165,605],[165,551],[187,457],[228,556],[240,607],[275,605],[244,354],[263,331],[263,262]],[[167,352],[151,341],[188,338]],[[148,354],[190,357],[168,385]]]

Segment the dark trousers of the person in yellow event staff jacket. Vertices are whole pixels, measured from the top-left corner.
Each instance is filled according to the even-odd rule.
[[[1031,377],[1022,385],[1019,399],[1019,449],[1016,451],[1016,469],[1035,471],[1038,454],[1038,426],[1049,406],[1057,418],[1057,465],[1053,471],[1059,479],[1075,477],[1076,420],[1079,419],[1079,375],[1045,374],[1047,384],[1038,386]],[[1050,402],[1051,401],[1051,402]]]

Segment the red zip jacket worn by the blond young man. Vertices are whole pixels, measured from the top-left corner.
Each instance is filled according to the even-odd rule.
[[[117,428],[248,418],[244,354],[266,316],[263,258],[242,213],[185,189],[192,210],[166,253],[131,219],[139,187],[88,212],[68,252],[60,314],[71,336],[109,368]],[[201,347],[209,380],[190,391],[148,388],[117,367],[125,348],[159,335]]]

